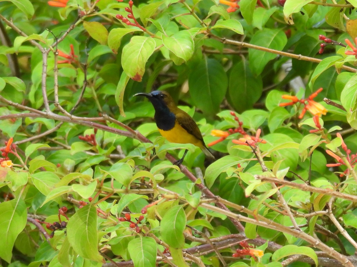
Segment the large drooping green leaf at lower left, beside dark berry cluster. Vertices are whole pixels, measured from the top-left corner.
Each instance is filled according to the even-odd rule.
[[[67,224],[67,238],[80,256],[102,262],[98,251],[97,217],[97,209],[91,204],[77,210]]]

